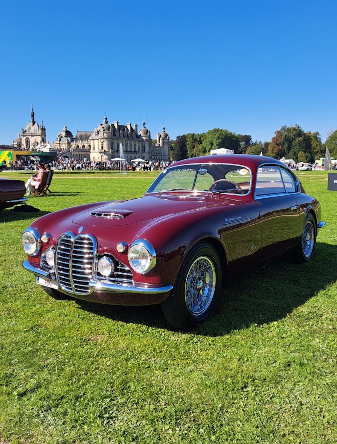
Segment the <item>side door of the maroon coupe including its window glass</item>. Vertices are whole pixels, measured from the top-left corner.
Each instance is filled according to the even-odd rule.
[[[297,191],[292,174],[279,165],[261,165],[257,172],[255,201],[261,220],[261,260],[294,246],[299,231]]]

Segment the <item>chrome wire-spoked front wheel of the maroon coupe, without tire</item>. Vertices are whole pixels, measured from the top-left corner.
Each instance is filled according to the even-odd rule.
[[[185,303],[193,316],[201,316],[210,306],[215,292],[215,268],[207,256],[191,265],[185,281]]]

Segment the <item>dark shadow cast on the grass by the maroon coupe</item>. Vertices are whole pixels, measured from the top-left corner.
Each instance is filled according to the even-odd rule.
[[[294,264],[278,260],[254,273],[228,282],[216,314],[189,332],[223,336],[286,317],[337,280],[337,246],[318,243],[314,259]],[[160,305],[121,307],[77,300],[81,309],[125,323],[170,329]]]

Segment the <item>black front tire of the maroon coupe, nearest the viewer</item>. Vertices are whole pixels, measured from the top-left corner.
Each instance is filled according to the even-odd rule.
[[[197,275],[191,276],[191,274],[193,274],[192,267],[194,265],[198,267],[198,264],[200,264],[201,266],[205,265],[207,270],[207,267],[209,267],[210,273],[208,274],[208,279],[210,279],[210,282],[212,282],[212,287],[210,287],[210,282],[208,283],[209,286],[204,287],[203,281],[201,279],[198,281],[198,285],[200,285],[201,288],[199,288],[199,286],[191,284],[191,282],[196,284],[195,277]],[[215,284],[213,280],[213,275],[215,277]],[[189,280],[187,279],[188,277]],[[221,262],[217,252],[210,244],[206,242],[200,242],[194,248],[192,248],[192,250],[186,256],[182,266],[180,267],[173,290],[171,291],[169,297],[162,303],[164,316],[169,324],[178,330],[187,331],[193,329],[202,322],[205,322],[212,315],[219,302],[221,280]],[[186,297],[185,286],[187,288]],[[188,290],[188,288],[190,288],[190,290]],[[210,288],[212,288],[213,290],[210,290]],[[199,314],[193,314],[191,312],[191,309],[189,309],[187,306],[188,302],[186,302],[186,299],[189,299],[189,291],[195,292],[197,298],[199,296],[199,293],[200,296],[203,296],[205,295],[205,291],[206,295],[207,291],[210,291],[209,299],[207,300],[207,302],[204,302],[205,305],[202,307],[199,306]]]

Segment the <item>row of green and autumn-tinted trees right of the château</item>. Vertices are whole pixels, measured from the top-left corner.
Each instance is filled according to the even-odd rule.
[[[236,134],[227,129],[214,128],[204,133],[177,136],[171,144],[173,160],[209,154],[212,149],[232,149],[237,154],[256,154],[275,159],[293,159],[295,162],[315,162],[325,156],[326,147],[337,158],[337,130],[331,131],[325,143],[318,131],[305,132],[300,125],[282,126],[269,142],[256,140],[248,134]]]

